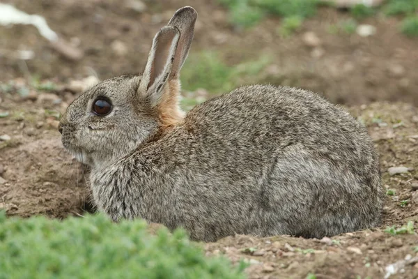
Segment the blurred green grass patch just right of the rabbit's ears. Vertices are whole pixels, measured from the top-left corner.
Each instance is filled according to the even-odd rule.
[[[267,57],[228,66],[216,52],[191,54],[181,73],[183,89],[206,89],[209,93],[224,93],[240,84],[256,82],[256,75],[268,64]]]

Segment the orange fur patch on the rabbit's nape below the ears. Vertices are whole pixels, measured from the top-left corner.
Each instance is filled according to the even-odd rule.
[[[162,93],[162,100],[158,105],[160,121],[162,126],[174,126],[183,121],[184,113],[180,110],[180,82],[178,80],[170,80]]]

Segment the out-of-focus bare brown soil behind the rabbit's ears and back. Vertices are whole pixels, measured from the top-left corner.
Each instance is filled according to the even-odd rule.
[[[54,31],[84,51],[84,58],[63,59],[34,27],[0,28],[1,81],[38,74],[64,82],[92,73],[104,79],[141,72],[157,30],[177,8],[192,5],[199,13],[192,53],[216,51],[229,65],[268,56],[270,65],[261,73],[260,82],[301,86],[324,93],[334,103],[403,100],[418,105],[418,40],[400,33],[394,17],[362,21],[376,27],[376,35],[363,38],[330,31],[350,15],[322,8],[294,36],[281,38],[279,18],[270,17],[247,31],[237,30],[215,0],[145,1],[144,12],[129,8],[129,0],[6,2],[44,16]],[[303,39],[306,31],[314,31],[319,42],[308,46]],[[34,58],[17,59],[20,50],[32,50]]]

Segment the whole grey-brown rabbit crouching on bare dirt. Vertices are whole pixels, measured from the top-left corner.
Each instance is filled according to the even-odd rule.
[[[177,10],[142,75],[104,80],[61,117],[63,146],[91,167],[98,209],[206,242],[378,226],[378,154],[341,107],[302,89],[250,85],[180,110],[196,18],[191,7]]]

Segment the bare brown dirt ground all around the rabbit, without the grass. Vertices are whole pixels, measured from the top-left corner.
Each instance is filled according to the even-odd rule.
[[[84,50],[84,58],[64,59],[33,27],[0,28],[0,81],[15,84],[0,88],[0,209],[9,216],[51,218],[93,212],[86,170],[65,153],[56,130],[56,112],[63,112],[79,94],[68,90],[68,84],[92,71],[100,79],[139,72],[154,33],[173,10],[187,3],[146,2],[148,10],[137,13],[119,1],[9,2],[45,16],[52,29]],[[418,278],[418,235],[385,232],[387,226],[418,224],[418,40],[399,33],[396,19],[366,20],[378,30],[370,38],[330,34],[327,27],[346,17],[330,8],[283,39],[274,33],[276,18],[238,31],[215,1],[194,1],[193,6],[199,12],[193,52],[217,50],[234,65],[258,57],[254,50],[259,50],[271,56],[263,81],[312,89],[347,105],[369,128],[388,194],[382,226],[373,230],[322,240],[231,236],[203,243],[206,253],[226,255],[233,262],[246,259],[249,278],[307,278],[309,273],[316,278],[385,278],[390,271],[390,278]],[[321,39],[323,56],[313,56],[314,49],[303,42],[308,30]],[[125,43],[123,56],[109,47],[115,40]],[[23,62],[13,55],[28,48],[35,52],[34,59]],[[59,86],[35,89],[29,84],[34,74]],[[22,88],[27,93],[20,94]],[[389,175],[389,167],[401,166],[408,172]]]

